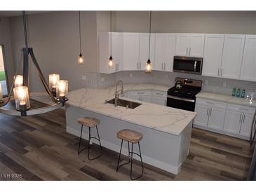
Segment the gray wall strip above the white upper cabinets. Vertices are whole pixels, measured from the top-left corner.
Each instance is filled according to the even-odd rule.
[[[152,32],[256,34],[256,11],[153,11]],[[149,11],[116,11],[116,32],[148,32]]]

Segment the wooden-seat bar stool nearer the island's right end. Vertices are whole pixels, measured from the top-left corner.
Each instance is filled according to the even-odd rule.
[[[119,132],[117,132],[117,137],[119,137],[119,139],[122,139],[120,153],[119,153],[119,161],[120,161],[120,157],[121,157],[123,140],[128,142],[128,157],[129,157],[128,163],[130,163],[130,179],[135,180],[135,179],[142,177],[142,174],[144,171],[144,166],[143,166],[143,162],[142,162],[142,153],[140,152],[140,154],[138,154],[138,153],[133,152],[133,144],[138,144],[139,151],[140,151],[140,140],[142,139],[143,135],[140,132],[137,132],[135,130],[125,129],[125,130],[120,130]],[[132,145],[132,151],[130,151],[130,143]],[[133,177],[133,154],[140,156],[140,162],[142,165],[142,173],[138,177],[135,177],[135,178]],[[117,163],[116,172],[119,170],[119,168],[121,166],[128,164],[128,163],[123,163],[122,165],[119,165],[119,161]]]

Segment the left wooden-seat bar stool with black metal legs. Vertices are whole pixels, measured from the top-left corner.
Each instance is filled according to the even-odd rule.
[[[79,122],[79,124],[81,124],[81,135],[80,135],[80,139],[79,139],[79,151],[78,151],[78,153],[81,153],[81,151],[83,151],[85,149],[88,149],[88,159],[89,160],[94,160],[96,158],[99,158],[101,156],[101,153],[102,153],[102,146],[101,146],[101,142],[100,142],[100,135],[99,135],[99,132],[97,130],[97,125],[100,124],[100,120],[98,120],[97,118],[92,118],[92,117],[83,117],[83,118],[79,118],[78,122]],[[83,126],[86,126],[86,127],[89,128],[89,139],[88,139],[88,147],[80,150]],[[97,130],[97,137],[90,136],[90,128],[96,128],[96,130]],[[95,158],[90,158],[90,139],[92,139],[92,138],[96,139],[100,143],[100,155],[95,157]]]

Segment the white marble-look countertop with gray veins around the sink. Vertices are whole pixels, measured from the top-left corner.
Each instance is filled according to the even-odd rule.
[[[123,85],[123,90],[161,90],[167,91],[168,87],[163,85],[136,84]],[[171,107],[164,107],[157,104],[130,100],[141,103],[135,109],[105,103],[106,100],[114,98],[115,87],[106,89],[82,88],[69,92],[67,104],[93,111],[98,114],[118,118],[147,128],[168,132],[173,135],[180,135],[182,130],[196,117],[196,113],[184,111]]]

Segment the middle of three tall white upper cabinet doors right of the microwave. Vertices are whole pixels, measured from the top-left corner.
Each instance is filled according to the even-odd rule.
[[[224,78],[239,78],[244,43],[245,35],[225,35],[220,76]]]

